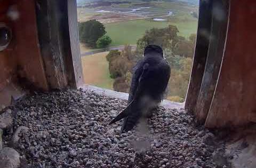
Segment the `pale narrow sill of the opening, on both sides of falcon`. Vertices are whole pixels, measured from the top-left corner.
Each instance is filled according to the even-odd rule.
[[[113,90],[103,89],[101,87],[92,86],[92,85],[84,84],[83,86],[80,87],[80,89],[82,89],[83,91],[94,92],[94,93],[97,93],[97,94],[100,94],[100,95],[105,95],[107,97],[116,98],[116,99],[128,100],[128,98],[129,98],[128,93],[116,92],[116,91],[113,91]],[[184,108],[184,104],[185,103],[163,100],[161,106],[163,106],[164,108],[181,109],[181,108]]]

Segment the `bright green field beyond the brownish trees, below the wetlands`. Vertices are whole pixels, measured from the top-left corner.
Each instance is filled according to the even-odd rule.
[[[181,18],[180,18],[181,19]],[[106,24],[107,35],[112,39],[111,46],[136,44],[137,40],[145,34],[150,28],[164,28],[168,25],[178,27],[180,36],[189,37],[190,34],[197,31],[197,20],[185,18],[184,21],[174,19],[174,21],[151,21],[151,20],[132,20],[117,23]]]

